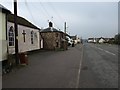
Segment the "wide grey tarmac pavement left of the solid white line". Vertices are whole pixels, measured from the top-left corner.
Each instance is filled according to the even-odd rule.
[[[2,78],[3,88],[78,88],[82,45],[67,51],[40,51],[28,55],[29,65]]]

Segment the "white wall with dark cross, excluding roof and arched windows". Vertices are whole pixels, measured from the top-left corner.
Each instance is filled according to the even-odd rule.
[[[14,25],[13,23],[8,22],[7,23],[7,30],[9,30],[9,28],[13,25]],[[25,42],[24,42],[24,38],[23,38],[23,34],[22,34],[23,30],[25,30],[25,33],[26,33]],[[31,31],[34,32],[34,42],[33,42],[33,44],[31,44]],[[40,49],[39,30],[30,28],[30,27],[26,27],[26,26],[23,26],[23,25],[18,25],[18,47],[19,47],[19,52],[32,51],[32,50]],[[9,53],[15,53],[15,48],[9,46]]]

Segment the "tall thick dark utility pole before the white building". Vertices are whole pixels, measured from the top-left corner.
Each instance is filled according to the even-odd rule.
[[[18,26],[17,26],[17,0],[14,0],[14,28],[15,28],[15,61],[19,64],[18,56]]]

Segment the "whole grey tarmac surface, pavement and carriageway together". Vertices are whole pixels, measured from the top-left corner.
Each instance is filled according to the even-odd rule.
[[[3,76],[3,88],[117,88],[116,45],[84,44],[30,54],[29,65]]]

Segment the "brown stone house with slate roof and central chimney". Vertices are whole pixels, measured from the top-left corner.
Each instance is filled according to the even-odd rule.
[[[43,38],[43,47],[46,50],[67,49],[66,34],[53,27],[53,23],[49,22],[49,27],[41,32]]]

